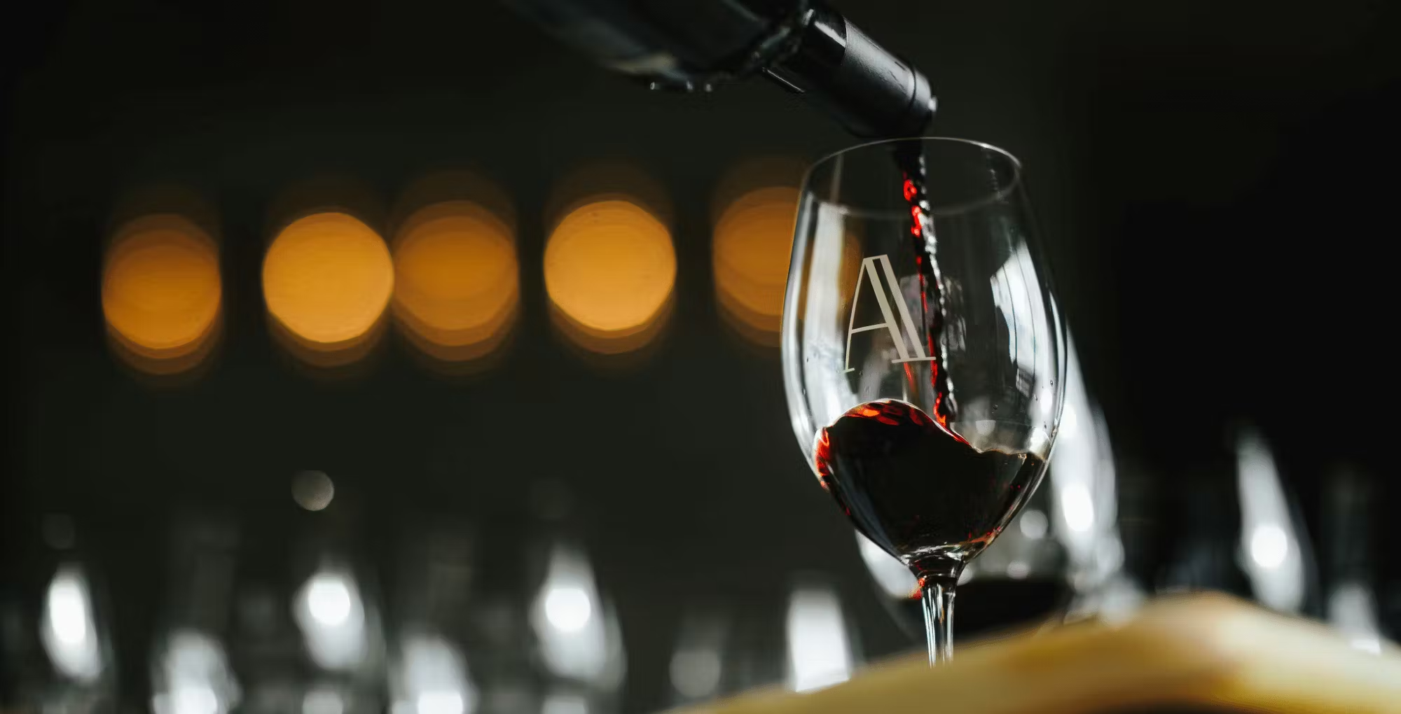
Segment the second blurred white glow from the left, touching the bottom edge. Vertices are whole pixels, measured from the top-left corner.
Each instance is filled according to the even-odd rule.
[[[156,714],[226,714],[242,696],[223,645],[198,630],[175,630],[157,655]]]

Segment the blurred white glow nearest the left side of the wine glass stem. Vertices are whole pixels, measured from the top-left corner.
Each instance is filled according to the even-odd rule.
[[[787,610],[789,683],[810,692],[846,682],[852,651],[836,594],[829,588],[797,588]]]

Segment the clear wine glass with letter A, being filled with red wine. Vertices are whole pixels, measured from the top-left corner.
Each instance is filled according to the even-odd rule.
[[[789,413],[821,486],[919,580],[932,664],[953,652],[960,571],[1045,472],[1063,342],[1012,154],[899,139],[808,171],[783,307]]]

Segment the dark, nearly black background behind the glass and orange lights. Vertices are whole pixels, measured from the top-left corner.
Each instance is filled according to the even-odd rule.
[[[1115,437],[1131,568],[1153,585],[1192,522],[1182,491],[1229,479],[1229,435],[1255,424],[1316,538],[1331,469],[1376,479],[1373,570],[1395,623],[1397,4],[836,4],[930,77],[934,133],[1024,160]],[[776,351],[738,340],[713,300],[719,178],[758,154],[849,144],[835,125],[761,81],[650,94],[482,0],[28,11],[3,29],[0,584],[36,606],[52,568],[39,524],[73,514],[127,687],[146,686],[171,524],[189,510],[241,524],[240,578],[269,581],[290,578],[289,543],[312,535],[391,571],[408,524],[468,522],[507,561],[563,528],[618,602],[629,711],[664,703],[688,603],[778,619],[797,573],[839,585],[869,657],[911,645],[793,448]],[[593,160],[644,167],[675,207],[675,309],[629,370],[600,370],[553,333],[538,269],[548,193]],[[523,311],[504,360],[446,381],[391,335],[354,379],[294,368],[258,283],[280,193],[331,174],[389,203],[457,167],[490,176],[521,216]],[[219,213],[226,332],[181,388],[122,368],[99,309],[113,204],[153,182]],[[338,487],[315,521],[287,497],[307,468]],[[546,525],[541,494],[560,484],[570,515]]]

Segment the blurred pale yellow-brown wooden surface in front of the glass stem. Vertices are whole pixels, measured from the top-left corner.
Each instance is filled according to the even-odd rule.
[[[1133,619],[975,643],[947,666],[904,658],[808,694],[755,692],[686,714],[1072,714],[1159,707],[1401,713],[1401,654],[1222,595],[1157,601]]]

